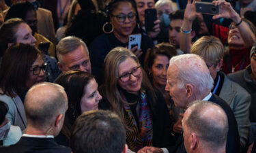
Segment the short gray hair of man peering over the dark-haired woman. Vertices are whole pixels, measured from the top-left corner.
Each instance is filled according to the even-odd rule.
[[[76,50],[76,48],[79,48],[79,46],[83,46],[87,53],[89,54],[88,48],[85,44],[85,42],[82,39],[79,39],[78,37],[74,36],[68,36],[62,38],[59,43],[56,46],[56,53],[57,58],[61,62],[63,54],[68,54],[69,52],[72,52]]]

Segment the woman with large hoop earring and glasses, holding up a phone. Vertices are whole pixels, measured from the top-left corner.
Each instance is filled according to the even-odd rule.
[[[94,39],[89,47],[92,69],[96,72],[93,73],[100,78],[106,54],[117,46],[127,48],[129,35],[140,33],[137,6],[134,0],[113,0],[106,10],[109,22],[102,27],[104,34]],[[149,37],[141,35],[141,49],[133,46],[131,51],[143,63],[145,52],[153,45],[153,41]]]

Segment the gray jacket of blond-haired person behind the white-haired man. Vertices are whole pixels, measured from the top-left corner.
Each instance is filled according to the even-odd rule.
[[[239,84],[229,80],[227,75],[225,75],[219,97],[229,104],[234,116],[236,117],[241,147],[244,148],[248,140],[249,128],[251,126],[251,122],[249,120],[251,95],[249,95],[248,92]]]

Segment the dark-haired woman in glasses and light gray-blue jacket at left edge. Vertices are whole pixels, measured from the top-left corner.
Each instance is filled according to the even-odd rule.
[[[6,50],[0,67],[0,101],[8,104],[12,125],[27,126],[23,102],[27,90],[44,82],[46,64],[40,50],[29,44],[14,44]]]

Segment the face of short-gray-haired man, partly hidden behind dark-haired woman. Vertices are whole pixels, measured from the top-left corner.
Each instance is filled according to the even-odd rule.
[[[79,70],[91,73],[91,62],[86,48],[81,45],[76,50],[63,54],[59,69],[61,71]]]

